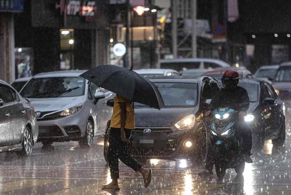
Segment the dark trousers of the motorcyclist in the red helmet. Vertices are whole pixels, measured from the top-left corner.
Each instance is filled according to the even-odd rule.
[[[245,154],[251,153],[252,149],[252,130],[251,127],[244,121],[240,121],[237,123],[237,133],[238,138],[242,139],[242,152]],[[207,155],[205,160],[205,169],[212,170],[213,169],[213,148],[214,148],[214,141],[210,140],[207,148]]]

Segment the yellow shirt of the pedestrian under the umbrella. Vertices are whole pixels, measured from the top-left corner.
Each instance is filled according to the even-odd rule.
[[[113,106],[113,114],[111,117],[111,127],[113,128],[120,128],[121,127],[121,118],[120,118],[120,102],[125,102],[126,107],[126,121],[125,121],[125,129],[135,129],[134,124],[134,104],[133,102],[121,97],[120,95],[116,94],[114,98],[114,106]]]

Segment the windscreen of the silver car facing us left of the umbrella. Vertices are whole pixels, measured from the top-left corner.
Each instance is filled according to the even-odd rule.
[[[81,96],[85,93],[85,82],[85,79],[82,77],[31,79],[21,91],[21,95],[27,98]]]

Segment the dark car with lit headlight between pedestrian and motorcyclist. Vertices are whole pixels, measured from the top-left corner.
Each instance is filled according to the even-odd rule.
[[[205,159],[207,133],[202,117],[206,102],[219,90],[210,77],[170,77],[151,80],[157,85],[165,108],[153,109],[135,103],[135,125],[128,152],[137,158]],[[107,159],[108,129],[104,134]]]

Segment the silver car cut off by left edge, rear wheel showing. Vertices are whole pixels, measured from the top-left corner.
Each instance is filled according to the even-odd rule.
[[[17,151],[29,156],[37,139],[33,106],[0,80],[0,152]]]

